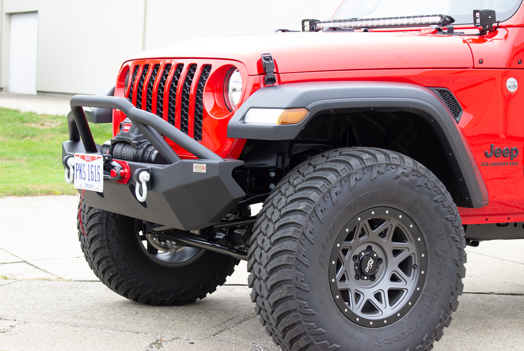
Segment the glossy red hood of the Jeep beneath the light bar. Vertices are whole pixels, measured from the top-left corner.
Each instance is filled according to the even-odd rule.
[[[266,52],[272,54],[278,73],[473,67],[470,47],[461,37],[421,32],[292,32],[202,38],[144,51],[128,60],[230,59],[244,63],[248,74],[254,75],[263,73],[259,61],[260,54]]]

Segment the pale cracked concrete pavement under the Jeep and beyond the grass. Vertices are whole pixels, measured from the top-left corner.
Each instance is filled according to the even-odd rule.
[[[63,114],[69,98],[0,93],[0,106]],[[140,305],[89,269],[77,196],[0,198],[0,350],[276,351],[254,314],[241,262],[184,306]],[[524,351],[524,240],[468,247],[464,294],[436,351]]]

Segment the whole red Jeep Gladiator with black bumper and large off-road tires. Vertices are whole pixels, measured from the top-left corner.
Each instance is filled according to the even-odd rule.
[[[129,57],[71,99],[62,162],[90,267],[172,305],[247,260],[283,350],[431,349],[465,246],[524,238],[520,5],[346,0],[301,32]]]

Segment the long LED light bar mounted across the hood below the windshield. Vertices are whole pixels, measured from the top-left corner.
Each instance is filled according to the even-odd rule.
[[[339,28],[384,28],[440,25],[445,26],[455,20],[445,15],[424,15],[410,17],[389,17],[370,19],[340,19],[326,22],[315,22],[311,30],[319,31],[329,27]]]

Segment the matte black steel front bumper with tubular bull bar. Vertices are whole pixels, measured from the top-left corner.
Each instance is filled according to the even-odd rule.
[[[136,108],[122,97],[75,95],[71,98],[72,113],[68,116],[70,140],[62,144],[62,160],[74,156],[75,152],[100,152],[82,106],[120,109],[170,163],[127,161],[131,174],[137,169],[149,170],[151,180],[145,202],[137,200],[136,183],[130,180],[128,184],[104,181],[102,193],[84,191],[86,204],[190,231],[220,222],[246,195],[232,177],[233,169],[241,166],[243,161],[222,159],[165,120]],[[181,160],[161,135],[199,159]],[[194,163],[205,164],[205,172],[195,172]]]

